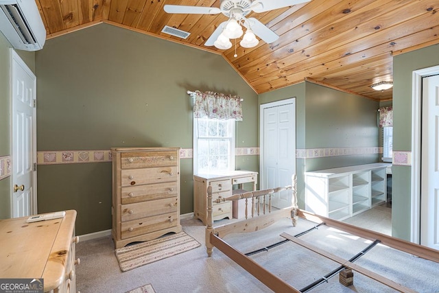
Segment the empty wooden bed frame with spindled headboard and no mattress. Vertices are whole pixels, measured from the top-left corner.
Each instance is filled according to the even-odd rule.
[[[265,268],[259,265],[256,261],[253,261],[250,257],[244,255],[239,250],[230,246],[227,242],[222,239],[225,235],[230,233],[243,233],[243,232],[254,232],[259,231],[263,228],[274,224],[277,220],[281,218],[289,218],[292,220],[292,224],[296,226],[297,219],[303,218],[305,220],[310,220],[315,223],[324,223],[327,226],[340,229],[346,233],[351,233],[365,239],[369,239],[375,242],[379,242],[386,246],[396,248],[397,250],[404,251],[405,253],[410,253],[424,259],[429,259],[431,261],[439,262],[439,252],[437,250],[427,248],[425,246],[420,246],[412,242],[407,242],[403,239],[397,239],[390,237],[388,235],[383,235],[381,233],[373,232],[364,228],[359,228],[351,224],[346,224],[330,218],[325,218],[320,215],[315,215],[308,213],[307,211],[302,211],[298,209],[297,205],[297,189],[296,189],[296,175],[292,176],[292,185],[287,187],[278,187],[275,189],[264,189],[259,191],[249,191],[244,194],[235,194],[228,198],[212,198],[212,189],[208,188],[208,198],[207,198],[207,225],[206,225],[206,251],[207,255],[210,257],[213,253],[213,247],[216,247],[227,257],[235,261],[239,266],[250,272],[254,277],[259,279],[263,284],[274,292],[300,292],[297,288],[289,285],[282,279],[276,277]],[[271,207],[271,197],[272,194],[279,191],[292,190],[292,204],[290,207],[285,209],[276,209],[272,211]],[[231,221],[230,224],[223,224],[221,226],[213,226],[213,202],[225,202],[230,200],[246,200],[246,219],[238,220],[237,222]],[[265,204],[262,204],[264,203]],[[250,207],[250,213],[248,213],[248,207]],[[282,237],[292,241],[300,246],[308,248],[319,255],[327,257],[345,268],[345,270],[355,270],[361,274],[378,281],[388,287],[398,290],[399,292],[415,292],[410,288],[405,288],[394,281],[382,277],[381,275],[357,266],[352,261],[342,259],[337,257],[327,251],[320,248],[312,246],[311,244],[304,242],[297,237],[289,235],[288,233],[282,233]],[[340,275],[342,273],[340,272]],[[341,279],[342,277],[340,277]],[[346,285],[346,284],[345,284]]]

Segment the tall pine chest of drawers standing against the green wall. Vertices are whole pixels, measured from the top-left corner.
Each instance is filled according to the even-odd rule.
[[[180,225],[180,148],[112,148],[112,237],[116,248]]]

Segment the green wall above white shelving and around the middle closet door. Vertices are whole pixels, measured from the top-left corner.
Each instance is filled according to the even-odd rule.
[[[296,148],[359,148],[378,146],[379,102],[325,86],[302,82],[259,95],[259,104],[296,97]],[[379,154],[296,159],[298,204],[305,207],[304,172],[376,163]]]

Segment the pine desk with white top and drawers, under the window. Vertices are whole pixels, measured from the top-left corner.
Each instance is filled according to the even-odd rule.
[[[226,198],[233,194],[233,185],[243,189],[245,183],[252,183],[252,190],[256,190],[258,173],[252,171],[227,171],[213,174],[193,175],[193,214],[195,218],[206,224],[207,220],[207,188],[212,187],[213,200]],[[224,218],[241,218],[241,202],[222,202],[213,204],[213,220]]]

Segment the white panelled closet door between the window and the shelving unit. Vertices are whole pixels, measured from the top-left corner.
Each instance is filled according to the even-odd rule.
[[[261,188],[292,184],[296,173],[295,99],[261,105]],[[291,191],[276,194],[274,207],[289,207]]]

